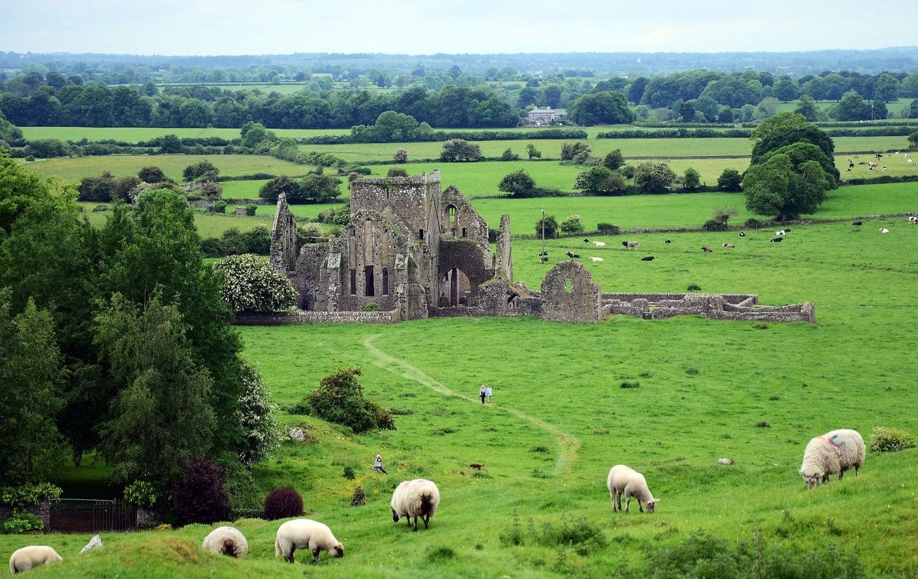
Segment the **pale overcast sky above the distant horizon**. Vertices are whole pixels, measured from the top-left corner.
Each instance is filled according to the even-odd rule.
[[[918,44],[911,4],[773,0],[0,0],[0,50],[722,52]]]

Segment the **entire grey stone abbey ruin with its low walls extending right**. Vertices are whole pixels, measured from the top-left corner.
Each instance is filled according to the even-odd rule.
[[[816,321],[811,303],[758,306],[757,295],[603,294],[575,261],[555,264],[535,291],[513,281],[509,216],[500,217],[493,254],[487,235],[487,223],[455,186],[441,190],[439,171],[354,180],[350,224],[340,236],[319,242],[297,238],[296,220],[281,195],[271,264],[293,282],[299,309],[272,321],[538,316],[595,322],[611,314]],[[371,303],[381,311],[364,311]]]

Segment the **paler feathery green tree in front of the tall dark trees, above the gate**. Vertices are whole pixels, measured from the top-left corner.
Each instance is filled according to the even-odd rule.
[[[95,341],[118,394],[100,426],[99,453],[118,480],[168,484],[207,455],[216,429],[213,387],[196,363],[178,308],[159,295],[138,306],[115,294],[95,317]]]

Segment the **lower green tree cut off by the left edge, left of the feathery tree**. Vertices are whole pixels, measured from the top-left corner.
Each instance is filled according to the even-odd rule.
[[[54,418],[62,405],[62,355],[50,313],[31,299],[10,316],[11,292],[0,288],[0,484],[45,480],[61,455]]]

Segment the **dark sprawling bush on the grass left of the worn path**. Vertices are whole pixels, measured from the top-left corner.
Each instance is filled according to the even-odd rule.
[[[360,368],[339,368],[322,378],[319,388],[290,408],[297,414],[309,414],[327,422],[350,427],[361,433],[375,429],[396,428],[388,408],[364,398],[364,387],[357,382]]]

